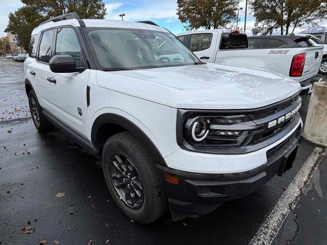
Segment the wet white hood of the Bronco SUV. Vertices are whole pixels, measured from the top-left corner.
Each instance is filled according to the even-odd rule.
[[[301,88],[298,82],[276,72],[219,64],[97,71],[97,83],[184,109],[259,108],[282,101]]]

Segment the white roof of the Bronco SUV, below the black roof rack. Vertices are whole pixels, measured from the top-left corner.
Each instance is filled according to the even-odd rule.
[[[153,24],[123,21],[123,20],[109,20],[109,19],[83,19],[86,27],[111,27],[111,28],[129,28],[129,29],[143,29],[152,31],[168,32],[165,28],[154,26]],[[32,35],[39,33],[44,29],[49,29],[58,26],[73,26],[80,27],[80,22],[77,19],[65,19],[60,21],[50,21],[36,27]]]

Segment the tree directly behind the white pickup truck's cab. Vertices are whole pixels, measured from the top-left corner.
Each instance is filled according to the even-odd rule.
[[[177,15],[186,30],[224,28],[236,20],[240,0],[177,0]]]

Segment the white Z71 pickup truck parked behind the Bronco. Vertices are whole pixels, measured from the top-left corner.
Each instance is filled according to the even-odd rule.
[[[254,36],[233,29],[203,30],[177,35],[203,62],[267,69],[301,84],[301,96],[312,91],[322,59],[322,46],[307,37]]]

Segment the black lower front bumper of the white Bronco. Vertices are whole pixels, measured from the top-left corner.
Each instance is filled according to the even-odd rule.
[[[158,166],[163,179],[168,174],[179,180],[179,184],[164,181],[170,208],[190,214],[207,214],[224,202],[255,191],[277,175],[278,171],[281,174],[285,154],[297,146],[301,139],[302,132],[294,131],[286,140],[267,152],[265,164],[242,173],[197,174]],[[286,169],[290,167],[286,166]]]

